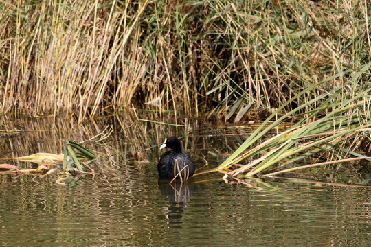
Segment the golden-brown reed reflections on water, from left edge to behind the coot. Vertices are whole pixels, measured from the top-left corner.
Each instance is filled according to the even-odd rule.
[[[157,121],[142,121],[138,120],[139,117]],[[83,142],[84,147],[99,157],[97,166],[109,169],[125,165],[127,158],[134,158],[137,152],[140,152],[142,161],[148,159],[156,162],[160,153],[158,146],[169,134],[180,138],[186,136],[184,147],[192,150],[196,137],[189,139],[188,136],[196,134],[199,129],[197,120],[190,122],[179,118],[179,124],[176,125],[172,116],[158,118],[149,113],[126,113],[81,123],[74,117],[64,116],[12,121],[2,117],[0,121],[0,158],[13,161],[15,157],[40,152],[60,154],[68,139]],[[120,158],[121,163],[118,163],[117,158]],[[25,168],[24,163],[17,165]]]

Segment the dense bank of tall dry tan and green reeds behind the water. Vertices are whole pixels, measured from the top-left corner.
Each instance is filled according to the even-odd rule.
[[[155,101],[176,114],[208,110],[238,121],[341,74],[286,104],[287,113],[368,63],[369,5],[2,1],[1,112],[67,112],[82,121]]]

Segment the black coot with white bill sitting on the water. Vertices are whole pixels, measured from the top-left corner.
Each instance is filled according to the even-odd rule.
[[[165,139],[164,144],[161,145],[162,148],[171,148],[170,151],[164,152],[161,155],[159,163],[157,164],[157,170],[159,171],[160,178],[174,178],[174,162],[177,159],[179,170],[181,171],[181,177],[184,178],[184,173],[188,174],[188,178],[194,174],[194,163],[192,158],[183,152],[181,148],[181,142],[177,137],[168,137]],[[186,163],[186,168],[184,168],[184,163]],[[182,170],[183,169],[183,170]],[[175,174],[179,171],[175,170]]]

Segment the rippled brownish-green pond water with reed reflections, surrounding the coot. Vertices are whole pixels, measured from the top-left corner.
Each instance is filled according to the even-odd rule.
[[[165,133],[185,137],[196,165],[204,165],[202,157],[210,168],[245,136],[203,121],[177,130],[133,121],[119,128],[119,120],[8,126],[34,131],[3,136],[3,157],[58,153],[64,139],[113,132],[86,143],[100,156],[94,176],[60,185],[58,175],[0,175],[0,246],[371,246],[370,187],[296,178],[225,183],[220,173],[169,185],[156,168]],[[148,162],[135,160],[139,150]]]

